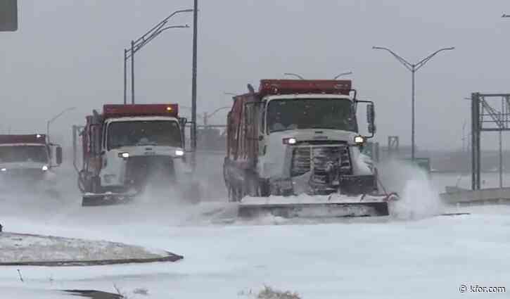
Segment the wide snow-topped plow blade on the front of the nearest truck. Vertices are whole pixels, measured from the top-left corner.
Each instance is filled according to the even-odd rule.
[[[303,200],[300,197],[272,196],[271,198],[245,198],[239,203],[239,217],[257,217],[270,214],[283,218],[331,218],[331,217],[370,217],[388,216],[388,196],[378,198],[331,198],[312,196]],[[325,197],[325,198],[323,198]]]

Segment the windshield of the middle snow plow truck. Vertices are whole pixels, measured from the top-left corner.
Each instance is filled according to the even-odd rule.
[[[108,149],[121,146],[181,147],[179,123],[174,120],[112,122],[108,126]]]

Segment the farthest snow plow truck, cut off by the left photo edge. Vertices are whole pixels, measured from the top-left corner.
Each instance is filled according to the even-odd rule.
[[[19,187],[56,193],[53,167],[62,163],[62,148],[50,144],[45,134],[0,135],[2,189]]]

